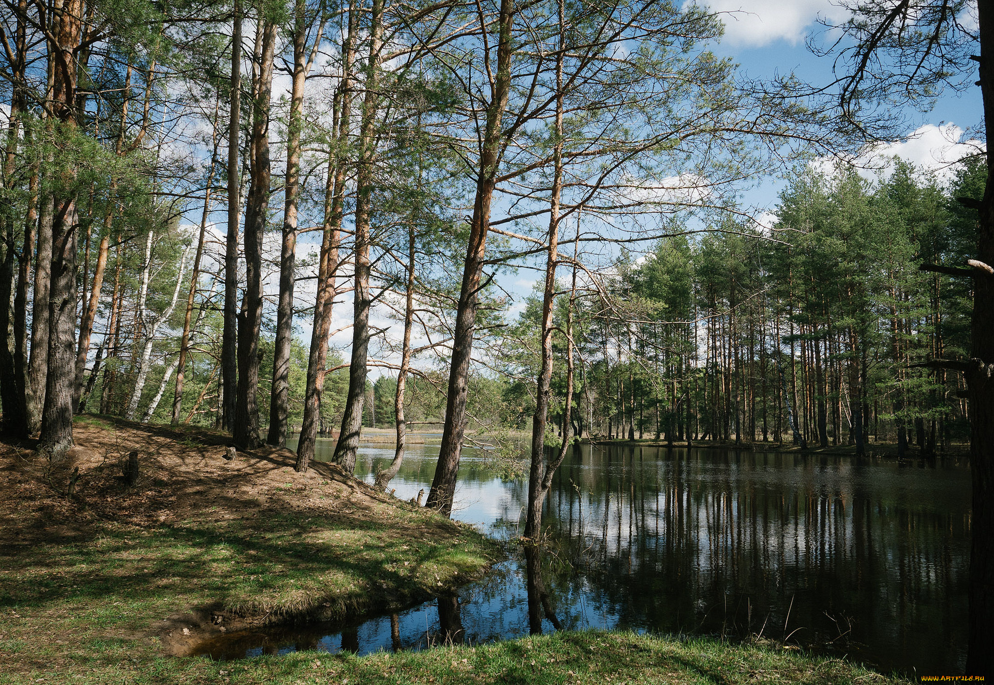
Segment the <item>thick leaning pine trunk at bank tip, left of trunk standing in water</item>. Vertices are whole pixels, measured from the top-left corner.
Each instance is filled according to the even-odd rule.
[[[490,225],[490,202],[497,185],[500,166],[504,109],[507,107],[511,86],[511,28],[514,23],[514,0],[501,0],[497,21],[497,70],[487,106],[487,123],[480,147],[479,169],[476,178],[476,197],[473,217],[469,226],[469,244],[462,269],[462,285],[452,337],[452,361],[448,375],[448,393],[445,399],[445,425],[442,429],[438,465],[435,468],[431,490],[426,505],[437,509],[444,516],[452,513],[452,496],[459,472],[459,455],[466,431],[466,395],[468,393],[469,364],[473,354],[473,329],[476,323],[476,306],[479,301],[483,260],[486,254],[487,229]],[[483,28],[483,27],[481,27]],[[485,28],[483,30],[486,30]]]

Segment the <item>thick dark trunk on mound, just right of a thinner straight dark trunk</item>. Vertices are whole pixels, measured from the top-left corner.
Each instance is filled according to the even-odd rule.
[[[242,449],[254,449],[261,442],[258,426],[258,336],[262,326],[262,235],[269,206],[269,98],[276,25],[265,21],[259,31],[262,32],[262,51],[258,94],[252,106],[253,162],[246,204],[245,315],[239,321],[239,384],[232,430],[236,444]]]

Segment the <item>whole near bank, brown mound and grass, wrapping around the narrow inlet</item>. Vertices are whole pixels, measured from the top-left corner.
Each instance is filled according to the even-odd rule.
[[[501,551],[333,466],[296,474],[285,450],[229,461],[218,433],[91,417],[77,439],[55,469],[30,444],[0,443],[0,684],[901,682],[775,645],[623,632],[368,657],[184,657],[288,616],[410,604]]]

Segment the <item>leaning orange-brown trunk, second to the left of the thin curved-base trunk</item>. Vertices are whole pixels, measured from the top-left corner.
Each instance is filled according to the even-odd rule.
[[[314,458],[314,441],[321,428],[321,391],[324,389],[325,364],[328,359],[328,333],[331,310],[335,299],[335,273],[338,270],[338,242],[345,208],[345,160],[342,149],[348,141],[349,118],[352,111],[352,67],[355,62],[355,36],[359,19],[355,0],[349,3],[349,29],[342,54],[342,80],[333,107],[332,128],[336,139],[328,153],[328,176],[325,188],[324,231],[318,261],[317,298],[314,302],[314,325],[311,328],[310,352],[307,357],[307,380],[304,386],[304,412],[297,439],[297,461],[294,468],[303,473]],[[336,149],[337,148],[337,149]]]

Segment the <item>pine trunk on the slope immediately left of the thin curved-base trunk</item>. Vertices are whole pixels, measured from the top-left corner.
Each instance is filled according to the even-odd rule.
[[[359,163],[356,181],[355,296],[352,322],[352,356],[349,361],[349,393],[342,415],[342,428],[335,444],[334,460],[346,473],[356,468],[356,451],[363,430],[366,399],[367,356],[370,344],[370,218],[373,196],[373,159],[376,156],[376,119],[379,102],[380,54],[383,49],[384,0],[373,0],[370,17],[370,58],[366,94],[359,132]]]

